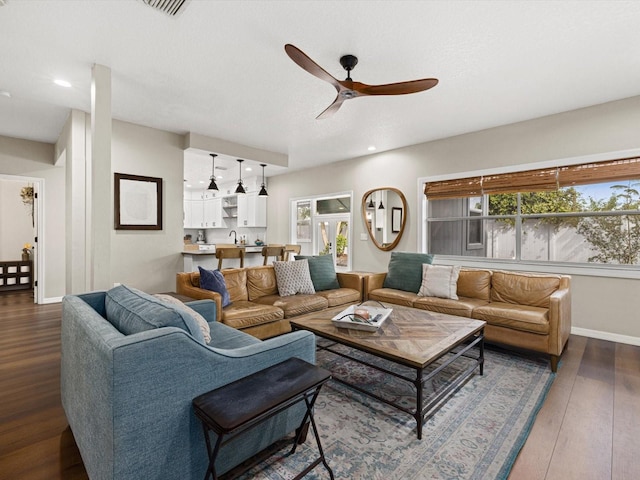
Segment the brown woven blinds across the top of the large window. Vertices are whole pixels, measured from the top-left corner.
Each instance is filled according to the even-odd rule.
[[[475,197],[483,194],[553,191],[560,187],[640,180],[640,158],[621,158],[565,167],[426,182],[424,193],[430,200]]]

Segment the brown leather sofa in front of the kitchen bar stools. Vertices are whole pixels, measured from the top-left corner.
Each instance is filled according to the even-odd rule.
[[[314,295],[278,295],[273,265],[221,270],[231,305],[222,308],[219,293],[200,288],[199,272],[178,273],[176,292],[197,300],[216,302],[218,321],[265,339],[291,331],[289,318],[340,305],[362,301],[363,279],[357,273],[338,272],[340,288],[318,291]]]

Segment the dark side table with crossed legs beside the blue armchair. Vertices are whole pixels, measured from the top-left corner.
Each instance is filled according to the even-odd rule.
[[[299,358],[290,358],[252,375],[236,380],[228,385],[202,394],[193,399],[196,416],[202,421],[209,466],[205,480],[209,475],[218,479],[215,461],[220,447],[237,435],[259,425],[277,413],[298,402],[304,401],[307,411],[293,443],[290,454],[296,451],[307,421],[311,422],[313,433],[318,444],[320,456],[298,474],[299,480],[315,468],[320,462],[329,472],[333,480],[333,471],[324,458],[320,443],[320,435],[313,418],[313,406],[320,388],[331,378],[331,374]],[[211,445],[209,432],[217,434],[215,445]]]

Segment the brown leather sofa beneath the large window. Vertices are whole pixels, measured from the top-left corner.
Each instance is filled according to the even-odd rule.
[[[452,300],[383,288],[386,275],[365,277],[365,299],[484,320],[486,341],[547,353],[557,370],[571,333],[571,277],[462,268]]]

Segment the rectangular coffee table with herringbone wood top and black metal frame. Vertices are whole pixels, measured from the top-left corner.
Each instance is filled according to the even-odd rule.
[[[392,308],[393,312],[376,332],[333,326],[331,318],[344,310],[344,306],[295,317],[290,319],[290,323],[294,330],[308,330],[318,337],[331,340],[329,345],[319,345],[320,349],[412,383],[416,389],[415,409],[393,403],[377,392],[363,389],[333,375],[334,380],[412,415],[416,419],[418,439],[421,439],[422,426],[425,420],[435,413],[434,407],[473,375],[476,367],[479,368],[480,375],[483,374],[485,322],[399,305],[385,307]],[[415,371],[415,376],[412,378],[401,375],[340,352],[333,348],[336,344],[346,345],[408,367]],[[424,399],[424,384],[460,357],[471,358],[474,361],[446,388]],[[434,362],[438,362],[437,367],[429,368]]]

